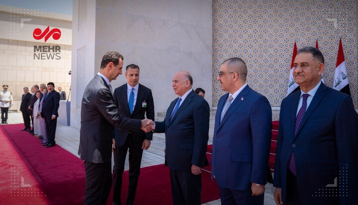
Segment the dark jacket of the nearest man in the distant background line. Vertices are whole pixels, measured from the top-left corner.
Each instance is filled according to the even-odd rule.
[[[51,119],[52,115],[58,117],[58,108],[60,106],[60,94],[53,90],[52,93],[47,92],[42,103],[41,116]]]

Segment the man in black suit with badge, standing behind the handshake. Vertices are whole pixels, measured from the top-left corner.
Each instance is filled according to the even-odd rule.
[[[126,67],[127,83],[116,88],[113,93],[114,103],[119,114],[132,119],[154,120],[154,102],[152,91],[139,84],[139,67],[131,64]],[[148,149],[153,132],[114,128],[115,147],[113,167],[113,204],[121,204],[122,175],[124,163],[129,149],[129,187],[127,205],[133,205],[137,190],[143,149]]]

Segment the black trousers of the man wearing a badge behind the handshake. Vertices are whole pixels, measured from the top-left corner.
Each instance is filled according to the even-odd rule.
[[[124,171],[124,162],[129,149],[129,187],[127,204],[133,204],[138,185],[140,174],[140,165],[142,161],[143,140],[137,139],[128,134],[123,146],[114,149],[114,166],[113,166],[113,201],[121,204],[122,175]]]

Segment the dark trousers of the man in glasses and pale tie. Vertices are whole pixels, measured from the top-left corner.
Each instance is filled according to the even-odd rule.
[[[219,187],[221,205],[264,205],[265,194],[252,196],[251,188],[247,191]]]

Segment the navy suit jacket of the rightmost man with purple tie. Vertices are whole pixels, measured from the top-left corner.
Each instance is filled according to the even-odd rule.
[[[358,204],[358,115],[350,96],[328,88],[323,83],[309,104],[294,137],[294,124],[301,91],[283,99],[280,109],[274,187],[282,188],[286,199],[287,163],[294,153],[297,185],[307,205],[333,202],[331,197],[312,197],[327,189],[328,184],[342,187],[338,179],[348,183],[348,197],[340,204]],[[339,177],[347,176],[348,179]],[[346,174],[346,175],[345,175]],[[336,187],[329,187],[334,190]],[[344,188],[342,188],[344,189]],[[329,192],[331,193],[331,192]],[[340,196],[346,194],[341,193]]]

